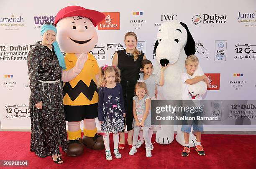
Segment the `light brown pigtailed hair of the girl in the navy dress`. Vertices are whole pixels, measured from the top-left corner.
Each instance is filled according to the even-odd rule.
[[[101,66],[100,67],[100,79],[97,87],[99,88],[104,83],[107,83],[106,78],[104,75],[110,72],[115,72],[115,83],[120,83],[120,69],[115,68],[115,66]]]

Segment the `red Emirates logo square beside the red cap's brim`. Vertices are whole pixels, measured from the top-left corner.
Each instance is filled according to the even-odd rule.
[[[106,12],[104,15],[105,20],[99,23],[98,30],[120,30],[119,12]]]

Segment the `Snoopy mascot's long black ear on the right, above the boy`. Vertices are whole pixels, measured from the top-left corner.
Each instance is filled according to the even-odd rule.
[[[180,24],[187,30],[187,44],[184,47],[185,53],[187,56],[195,55],[195,40],[189,32],[187,25],[182,22]]]

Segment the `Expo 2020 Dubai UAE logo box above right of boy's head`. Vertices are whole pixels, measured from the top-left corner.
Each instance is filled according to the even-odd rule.
[[[215,40],[214,61],[226,61],[227,40]]]

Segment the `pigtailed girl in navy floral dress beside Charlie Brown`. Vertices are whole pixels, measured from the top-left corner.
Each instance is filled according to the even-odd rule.
[[[124,101],[123,91],[120,85],[120,70],[114,66],[100,68],[98,118],[101,123],[103,141],[105,144],[106,160],[112,160],[109,135],[113,133],[115,158],[122,156],[118,151],[118,132],[124,129]]]

